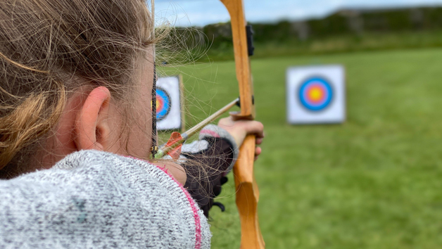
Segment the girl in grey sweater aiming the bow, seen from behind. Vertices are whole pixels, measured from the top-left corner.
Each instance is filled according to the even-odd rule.
[[[184,150],[199,185],[149,162],[151,30],[143,0],[0,1],[0,248],[210,247],[199,208],[263,126],[206,127]]]

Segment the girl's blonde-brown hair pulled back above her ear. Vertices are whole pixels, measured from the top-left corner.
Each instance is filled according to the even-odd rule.
[[[0,1],[0,177],[29,163],[70,92],[125,98],[152,30],[144,0]]]

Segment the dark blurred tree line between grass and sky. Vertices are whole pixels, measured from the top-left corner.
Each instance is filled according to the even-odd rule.
[[[253,39],[257,43],[306,41],[343,34],[362,36],[364,32],[401,32],[442,30],[442,8],[345,9],[327,18],[279,23],[252,23]],[[196,28],[187,37],[191,44],[208,42],[212,48],[232,46],[229,23],[217,23]],[[177,29],[175,32],[185,32]],[[180,35],[182,37],[182,35]]]

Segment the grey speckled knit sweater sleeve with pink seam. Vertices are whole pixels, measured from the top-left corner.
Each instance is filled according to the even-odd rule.
[[[210,248],[183,186],[149,162],[72,153],[0,181],[0,248]]]

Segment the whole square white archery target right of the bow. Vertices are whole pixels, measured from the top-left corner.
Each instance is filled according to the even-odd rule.
[[[341,65],[289,68],[286,80],[289,123],[339,123],[345,120],[345,77]]]

